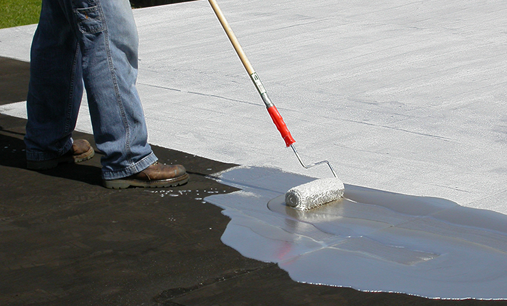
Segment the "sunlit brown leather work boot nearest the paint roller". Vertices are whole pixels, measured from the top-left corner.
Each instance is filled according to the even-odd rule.
[[[175,187],[188,181],[188,173],[182,165],[166,165],[155,162],[148,168],[121,179],[104,179],[106,188],[123,189],[134,187]]]

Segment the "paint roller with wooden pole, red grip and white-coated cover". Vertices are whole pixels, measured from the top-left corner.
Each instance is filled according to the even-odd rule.
[[[299,186],[295,186],[294,188],[290,188],[290,190],[288,190],[288,192],[285,195],[286,205],[299,210],[308,210],[326,203],[330,203],[332,201],[338,201],[343,197],[343,191],[345,190],[343,182],[340,179],[338,179],[336,172],[334,171],[330,162],[327,162],[327,160],[323,160],[321,162],[309,165],[306,165],[301,160],[301,156],[299,156],[299,153],[297,152],[294,146],[295,140],[293,136],[290,135],[290,131],[288,131],[284,119],[280,115],[280,112],[278,112],[277,108],[275,107],[271,99],[269,99],[266,89],[262,85],[262,82],[260,81],[260,78],[257,75],[257,73],[253,70],[253,67],[251,66],[247,58],[247,55],[245,55],[245,52],[243,51],[243,48],[240,46],[238,39],[234,35],[234,32],[232,31],[229,23],[227,23],[225,16],[223,16],[223,13],[220,10],[217,1],[215,0],[208,1],[210,2],[210,5],[214,10],[214,13],[217,15],[217,18],[219,18],[219,21],[225,33],[227,34],[227,37],[232,43],[234,50],[236,51],[236,53],[238,53],[238,57],[243,63],[243,66],[245,66],[245,69],[247,70],[247,73],[250,76],[251,81],[256,86],[257,91],[259,92],[260,97],[262,98],[262,101],[264,101],[264,104],[267,107],[269,116],[271,116],[273,123],[275,123],[275,126],[277,127],[278,131],[280,131],[280,134],[282,135],[282,138],[284,139],[286,146],[290,146],[290,148],[293,149],[297,157],[297,160],[299,160],[299,163],[304,168],[308,169],[320,164],[327,164],[332,174],[334,175],[334,177],[332,178],[316,179],[314,181],[310,181],[309,183],[305,183]]]

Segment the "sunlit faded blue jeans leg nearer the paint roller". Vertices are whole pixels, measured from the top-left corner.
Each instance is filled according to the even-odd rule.
[[[55,5],[54,0],[43,2]],[[105,153],[101,159],[103,178],[138,173],[156,162],[157,157],[147,144],[143,107],[135,87],[138,37],[129,1],[58,0],[58,3],[80,51],[81,69],[79,72],[76,69],[75,75],[82,73],[95,142]],[[41,20],[42,13],[48,11],[41,12]],[[60,17],[53,14],[48,18]],[[40,36],[44,38],[42,31]]]

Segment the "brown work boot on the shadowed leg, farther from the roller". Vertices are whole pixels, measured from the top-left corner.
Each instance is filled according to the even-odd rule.
[[[95,155],[95,151],[93,151],[90,142],[77,139],[74,140],[71,149],[64,155],[53,158],[53,160],[27,160],[27,168],[30,170],[49,170],[62,163],[72,164],[90,160],[93,155]]]

